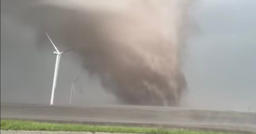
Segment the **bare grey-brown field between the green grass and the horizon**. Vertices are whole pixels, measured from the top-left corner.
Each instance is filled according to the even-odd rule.
[[[57,123],[256,132],[256,113],[177,107],[1,104],[1,118]]]

